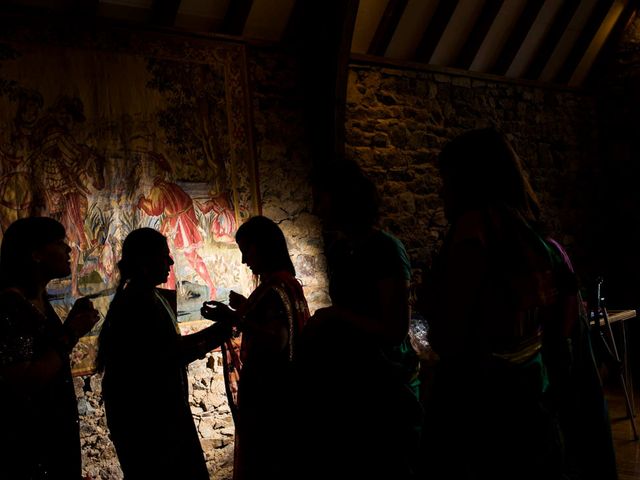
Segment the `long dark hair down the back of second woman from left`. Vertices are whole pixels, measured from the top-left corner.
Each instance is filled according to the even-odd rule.
[[[163,248],[167,244],[167,238],[153,228],[138,228],[132,230],[122,243],[122,255],[118,261],[118,270],[120,271],[120,280],[116,293],[109,305],[109,311],[104,319],[100,336],[98,337],[98,354],[96,356],[96,367],[99,372],[104,370],[105,363],[109,361],[112,355],[111,344],[111,323],[113,322],[114,312],[118,306],[125,286],[128,282],[135,279],[141,272],[141,266],[151,252],[156,252],[159,248]]]

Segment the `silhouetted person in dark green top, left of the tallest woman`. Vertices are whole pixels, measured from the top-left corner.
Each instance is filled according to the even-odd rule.
[[[312,186],[332,304],[304,334],[308,478],[412,478],[421,410],[409,257],[377,226],[376,187],[355,162],[321,166]]]

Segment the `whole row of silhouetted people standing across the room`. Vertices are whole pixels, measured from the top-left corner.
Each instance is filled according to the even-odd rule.
[[[577,276],[542,221],[521,161],[493,128],[438,158],[449,229],[410,302],[409,255],[378,225],[357,163],[311,175],[331,305],[310,315],[286,238],[264,216],[236,243],[258,279],[211,300],[181,335],[173,264],[157,230],[131,231],[99,336],[107,424],[126,480],[208,479],[186,367],[220,347],[235,423],[234,479],[613,480],[607,405]],[[23,218],[0,248],[0,478],[78,480],[69,355],[98,320],[86,297],[64,323],[47,284],[70,274],[64,227]],[[421,398],[412,308],[437,354]],[[152,399],[131,392],[145,366]]]

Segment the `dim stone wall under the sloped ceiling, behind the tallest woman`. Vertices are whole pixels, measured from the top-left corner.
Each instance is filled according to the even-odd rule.
[[[409,66],[352,65],[347,152],[383,195],[383,226],[417,272],[439,248],[446,219],[435,159],[467,129],[495,125],[523,159],[553,234],[579,271],[592,270],[588,231],[600,172],[594,96],[588,92]],[[478,158],[482,161],[482,158]]]

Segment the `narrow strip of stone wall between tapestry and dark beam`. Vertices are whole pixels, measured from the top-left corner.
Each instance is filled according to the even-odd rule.
[[[320,223],[312,215],[311,157],[298,69],[290,55],[250,51],[262,213],[287,237],[311,311],[328,304]]]

